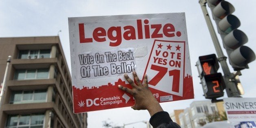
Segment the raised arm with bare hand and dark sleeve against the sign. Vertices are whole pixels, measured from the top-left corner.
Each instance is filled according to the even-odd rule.
[[[132,89],[126,88],[119,85],[121,90],[130,93],[135,98],[135,104],[132,106],[134,110],[148,110],[151,118],[150,124],[154,128],[181,128],[178,124],[172,121],[169,114],[163,111],[157,99],[154,98],[150,89],[148,88],[148,77],[144,76],[143,84],[140,82],[139,77],[136,72],[132,72],[135,82],[128,77],[127,74],[124,75],[127,82],[132,86]]]

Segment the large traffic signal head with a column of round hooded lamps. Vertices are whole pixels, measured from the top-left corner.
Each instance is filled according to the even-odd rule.
[[[255,53],[249,47],[243,46],[248,38],[243,31],[237,29],[241,22],[232,15],[234,6],[225,0],[207,0],[207,3],[212,10],[218,33],[221,34],[230,65],[235,71],[249,68],[247,64],[255,60]]]

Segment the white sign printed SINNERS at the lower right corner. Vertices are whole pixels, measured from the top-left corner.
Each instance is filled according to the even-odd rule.
[[[256,98],[224,98],[228,121],[256,121]]]

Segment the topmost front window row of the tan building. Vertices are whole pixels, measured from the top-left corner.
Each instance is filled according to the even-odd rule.
[[[51,49],[20,50],[18,59],[50,58]]]

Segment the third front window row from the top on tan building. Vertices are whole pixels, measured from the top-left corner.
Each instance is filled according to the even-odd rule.
[[[10,104],[46,102],[46,90],[13,91]]]

